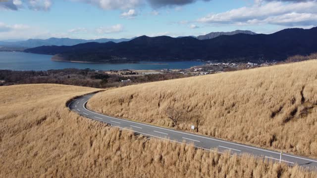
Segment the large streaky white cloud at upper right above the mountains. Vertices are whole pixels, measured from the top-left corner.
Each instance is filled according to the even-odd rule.
[[[241,7],[222,13],[209,14],[198,19],[201,23],[211,24],[275,24],[285,26],[317,25],[317,1],[283,3],[262,0],[251,7]],[[261,2],[261,3],[260,3]]]

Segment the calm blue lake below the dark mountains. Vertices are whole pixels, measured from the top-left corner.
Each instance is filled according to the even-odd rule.
[[[199,61],[179,62],[140,62],[136,64],[97,64],[97,63],[74,63],[52,61],[51,55],[32,54],[24,52],[0,52],[0,69],[7,70],[34,70],[45,71],[50,69],[96,69],[96,70],[159,70],[159,69],[188,69],[192,66],[202,65]],[[163,63],[163,64],[161,64]]]

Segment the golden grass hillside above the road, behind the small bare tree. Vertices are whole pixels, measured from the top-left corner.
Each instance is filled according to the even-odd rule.
[[[167,107],[185,112],[178,129],[317,157],[317,60],[107,90],[98,112],[171,127]]]

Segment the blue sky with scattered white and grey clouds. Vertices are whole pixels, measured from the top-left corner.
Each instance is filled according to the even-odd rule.
[[[0,0],[0,40],[270,34],[317,26],[317,0]]]

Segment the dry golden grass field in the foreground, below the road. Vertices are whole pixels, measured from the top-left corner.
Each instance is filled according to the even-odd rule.
[[[83,118],[68,99],[96,89],[0,87],[1,178],[315,178],[316,172],[135,136]]]

